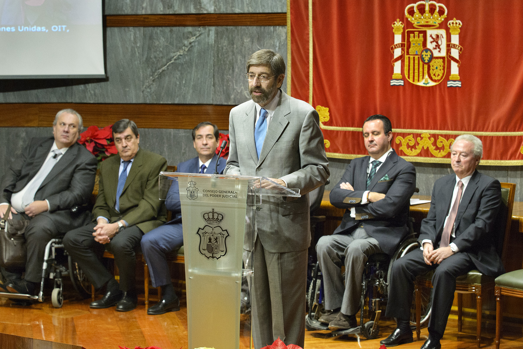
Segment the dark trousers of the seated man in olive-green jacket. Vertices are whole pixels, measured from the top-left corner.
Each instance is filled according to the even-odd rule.
[[[78,263],[90,282],[96,289],[101,288],[110,279],[112,274],[101,263],[104,249],[115,255],[115,263],[120,275],[120,290],[129,291],[134,288],[136,253],[140,246],[142,231],[132,225],[115,235],[108,244],[100,244],[93,236],[96,223],[89,223],[83,227],[65,234],[64,248]]]

